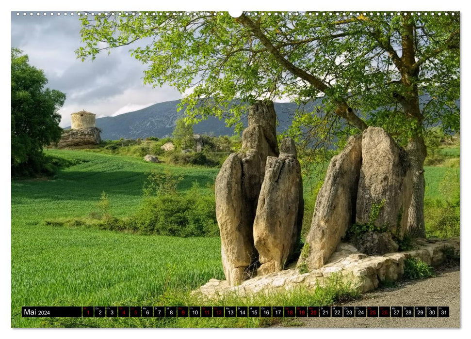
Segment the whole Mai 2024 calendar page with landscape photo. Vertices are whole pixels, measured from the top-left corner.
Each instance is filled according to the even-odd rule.
[[[460,11],[287,5],[12,10],[11,327],[461,326]]]

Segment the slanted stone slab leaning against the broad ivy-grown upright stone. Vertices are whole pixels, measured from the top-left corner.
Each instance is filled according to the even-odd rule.
[[[342,152],[330,161],[306,239],[309,254],[300,257],[298,264],[321,268],[355,222],[360,167],[361,136],[350,137]]]

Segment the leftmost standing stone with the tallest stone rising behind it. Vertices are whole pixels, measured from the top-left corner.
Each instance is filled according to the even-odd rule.
[[[258,101],[250,107],[248,123],[241,152],[229,155],[215,183],[222,262],[232,286],[240,284],[257,261],[253,222],[267,156],[278,156],[273,103]]]

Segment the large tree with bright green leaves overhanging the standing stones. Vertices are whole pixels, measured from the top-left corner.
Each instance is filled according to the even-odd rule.
[[[116,13],[81,23],[82,60],[142,40],[130,53],[148,65],[145,82],[192,90],[181,103],[188,121],[240,126],[244,104],[288,97],[315,102],[293,123],[307,140],[385,128],[410,155],[408,227],[425,235],[425,127],[459,131],[459,13]],[[243,104],[230,105],[236,98]]]

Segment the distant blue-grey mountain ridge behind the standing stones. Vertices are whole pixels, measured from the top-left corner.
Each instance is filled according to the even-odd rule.
[[[97,127],[101,129],[101,139],[171,136],[177,119],[184,114],[183,109],[177,112],[178,104],[179,100],[167,101],[115,117],[98,118]],[[275,103],[279,122],[276,129],[278,133],[284,132],[291,125],[296,108],[297,105],[294,103]],[[246,119],[243,123],[247,124]],[[212,136],[234,134],[234,128],[226,127],[224,120],[215,117],[209,117],[207,120],[197,123],[193,126],[193,130],[198,134]]]

